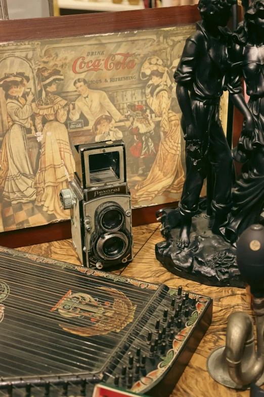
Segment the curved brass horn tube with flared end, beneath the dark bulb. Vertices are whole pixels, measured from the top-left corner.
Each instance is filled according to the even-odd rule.
[[[213,350],[207,359],[210,376],[224,386],[247,389],[264,383],[264,298],[253,298],[256,348],[252,317],[234,312],[228,318],[226,346]]]

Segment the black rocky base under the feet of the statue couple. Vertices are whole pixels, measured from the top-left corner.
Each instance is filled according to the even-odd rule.
[[[179,219],[178,213],[179,210],[174,209],[174,221]],[[164,221],[163,225],[170,224],[173,229],[167,226],[166,241],[156,244],[157,260],[171,273],[188,280],[205,285],[244,288],[236,263],[236,249],[211,232],[213,219],[208,219],[202,212],[192,221],[191,242],[185,249],[178,248],[176,244],[180,232],[180,227],[175,227],[176,221],[174,224]]]

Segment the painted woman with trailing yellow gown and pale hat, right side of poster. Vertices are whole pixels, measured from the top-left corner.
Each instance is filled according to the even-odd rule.
[[[135,187],[137,202],[151,201],[165,191],[181,193],[184,184],[180,119],[169,109],[171,92],[167,68],[160,58],[149,57],[142,66],[141,78],[151,79],[146,87],[146,98],[155,116],[161,118],[161,141],[149,175]]]

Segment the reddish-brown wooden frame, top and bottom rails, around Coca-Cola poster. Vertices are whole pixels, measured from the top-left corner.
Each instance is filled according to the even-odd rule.
[[[124,11],[118,13],[70,15],[63,17],[4,20],[0,22],[2,43],[60,39],[100,33],[138,31],[194,24],[200,20],[195,6]],[[155,212],[177,202],[133,209],[133,226],[156,222]],[[0,233],[0,245],[19,247],[71,237],[70,221]]]

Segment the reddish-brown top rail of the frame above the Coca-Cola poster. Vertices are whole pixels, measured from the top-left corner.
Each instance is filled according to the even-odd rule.
[[[151,29],[194,23],[201,19],[195,6],[153,8],[135,11],[66,15],[61,17],[1,21],[0,40],[39,40],[130,29]]]

